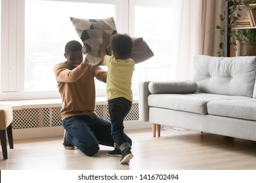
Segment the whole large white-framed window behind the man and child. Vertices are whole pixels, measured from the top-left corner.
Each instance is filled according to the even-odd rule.
[[[142,80],[175,79],[179,53],[179,1],[5,0],[1,1],[1,99],[58,97],[53,66],[65,61],[64,45],[79,40],[70,17],[113,16],[117,31],[143,37],[155,56],[135,66],[133,93]],[[3,11],[4,10],[4,11]],[[6,26],[8,25],[8,26]],[[7,28],[8,27],[8,28]],[[3,51],[3,49],[2,49]],[[106,68],[104,68],[106,69]],[[96,82],[98,95],[106,85]],[[7,95],[8,93],[8,95]],[[8,97],[9,96],[9,97]],[[0,99],[0,100],[1,100]]]

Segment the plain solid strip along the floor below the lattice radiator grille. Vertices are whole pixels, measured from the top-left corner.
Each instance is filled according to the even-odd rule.
[[[125,121],[125,129],[143,129],[150,128],[151,124],[148,122],[139,121]],[[13,129],[13,139],[33,139],[40,137],[54,137],[60,136],[64,133],[62,126],[56,127],[39,127],[39,128],[28,128],[28,129]]]

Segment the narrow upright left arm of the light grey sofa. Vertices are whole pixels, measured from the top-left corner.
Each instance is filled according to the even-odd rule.
[[[139,83],[139,121],[148,122],[148,95],[150,92],[148,90],[148,84],[150,81],[144,81]]]

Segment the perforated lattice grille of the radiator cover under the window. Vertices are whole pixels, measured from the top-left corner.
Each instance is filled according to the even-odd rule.
[[[61,107],[24,108],[13,110],[13,129],[26,129],[38,127],[54,127],[62,125],[60,116]],[[110,120],[108,105],[96,105],[96,114],[105,120]],[[139,105],[133,103],[127,121],[139,120]]]

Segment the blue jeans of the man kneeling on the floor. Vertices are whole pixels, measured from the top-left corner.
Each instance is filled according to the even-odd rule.
[[[96,154],[100,149],[99,144],[114,146],[111,124],[99,116],[73,116],[64,119],[62,124],[69,141],[87,156]]]

